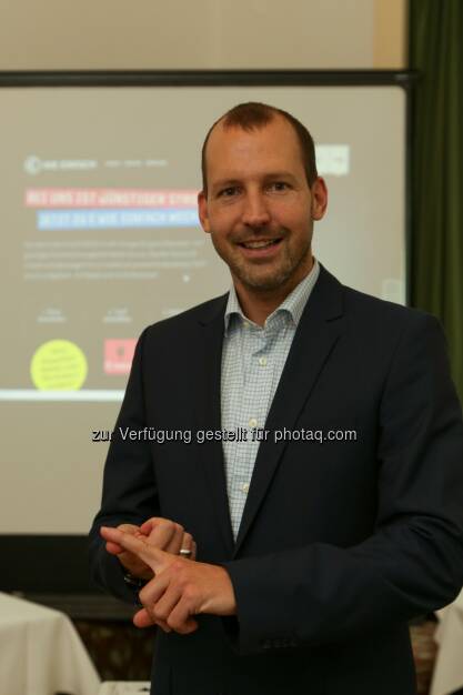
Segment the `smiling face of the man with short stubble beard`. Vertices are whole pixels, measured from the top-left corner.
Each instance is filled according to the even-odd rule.
[[[326,208],[323,180],[309,188],[292,125],[280,117],[251,132],[219,123],[207,169],[201,224],[238,290],[290,292],[312,266],[313,220]]]

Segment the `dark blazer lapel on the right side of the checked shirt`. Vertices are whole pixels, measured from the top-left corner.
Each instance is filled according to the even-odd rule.
[[[291,345],[279,386],[273,399],[265,429],[269,441],[261,442],[241,525],[234,556],[251,527],[265,496],[273,474],[288,442],[274,443],[273,431],[294,429],[323,365],[328,361],[341,333],[342,285],[321,266],[320,278],[305,305]]]

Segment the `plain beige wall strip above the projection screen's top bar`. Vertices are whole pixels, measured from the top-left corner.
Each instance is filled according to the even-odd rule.
[[[0,0],[0,70],[405,66],[406,0]]]

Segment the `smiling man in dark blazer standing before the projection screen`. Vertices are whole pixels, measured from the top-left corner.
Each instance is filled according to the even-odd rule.
[[[91,532],[103,586],[147,581],[157,695],[412,694],[407,621],[463,584],[442,332],[313,259],[325,209],[293,117],[248,103],[213,125],[199,211],[233,285],[143,332],[115,429],[192,441],[117,434]]]

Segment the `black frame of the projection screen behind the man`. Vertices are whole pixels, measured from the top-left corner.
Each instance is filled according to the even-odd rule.
[[[405,92],[405,296],[410,302],[412,250],[412,109],[419,80],[409,70],[100,70],[0,71],[2,88],[61,87],[400,87]],[[0,591],[33,597],[49,594],[49,604],[61,605],[63,595],[97,594],[87,566],[87,536],[82,534],[2,534],[4,557]],[[51,603],[50,603],[51,602]],[[99,616],[101,617],[101,615]],[[108,615],[108,618],[111,616]]]

